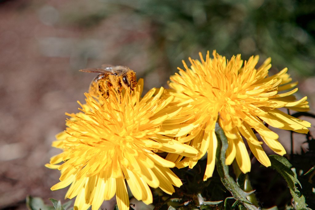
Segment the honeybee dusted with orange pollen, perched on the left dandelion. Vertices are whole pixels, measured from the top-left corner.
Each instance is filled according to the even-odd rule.
[[[101,95],[107,99],[111,87],[114,88],[119,97],[121,97],[122,88],[125,88],[131,94],[137,84],[135,72],[127,66],[102,65],[100,69],[89,68],[80,71],[100,73],[93,79],[89,87],[89,94],[94,97]]]

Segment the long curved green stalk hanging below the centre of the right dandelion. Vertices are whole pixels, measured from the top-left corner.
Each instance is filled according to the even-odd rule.
[[[249,210],[258,210],[257,207],[247,200],[246,196],[248,194],[244,192],[229,175],[229,167],[225,164],[225,153],[228,143],[224,131],[218,123],[215,124],[215,134],[218,139],[218,147],[216,151],[216,168],[221,178],[221,182],[226,187],[226,189],[231,192],[235,200],[241,202],[244,207]]]

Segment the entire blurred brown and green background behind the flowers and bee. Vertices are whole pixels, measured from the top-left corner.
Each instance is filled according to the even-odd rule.
[[[314,111],[314,38],[311,0],[0,1],[0,208],[24,209],[27,195],[63,199],[66,190],[49,190],[59,172],[44,164],[95,77],[79,69],[126,65],[148,90],[167,87],[199,51],[270,56]]]

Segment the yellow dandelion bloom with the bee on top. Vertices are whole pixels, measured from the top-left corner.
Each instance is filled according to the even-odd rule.
[[[165,108],[173,96],[161,100],[163,88],[153,88],[140,98],[142,86],[140,80],[133,94],[123,94],[120,102],[114,91],[108,99],[86,94],[86,104],[78,102],[81,112],[67,114],[66,131],[57,134],[53,142],[63,152],[46,166],[61,171],[60,182],[51,190],[70,185],[65,197],[77,196],[74,205],[78,209],[92,205],[92,210],[97,210],[115,194],[119,209],[129,209],[125,179],[133,196],[146,204],[152,203],[149,186],[172,194],[173,185],[182,185],[169,169],[175,163],[155,152],[196,156],[196,149],[175,140],[191,132],[193,126],[176,117],[180,109]]]

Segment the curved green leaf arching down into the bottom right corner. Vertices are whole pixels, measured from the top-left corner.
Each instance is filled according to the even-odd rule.
[[[295,168],[292,168],[291,163],[283,156],[271,155],[269,156],[271,168],[276,170],[287,182],[290,189],[291,196],[294,200],[294,209],[296,210],[311,210],[305,203],[305,197],[302,195],[297,186],[301,183],[297,179]]]

